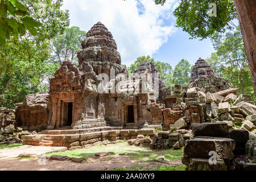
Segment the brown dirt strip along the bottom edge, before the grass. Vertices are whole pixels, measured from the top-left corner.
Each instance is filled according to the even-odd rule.
[[[162,162],[139,162],[130,160],[129,156],[108,156],[96,159],[93,162],[73,163],[71,161],[46,160],[46,164],[40,159],[0,159],[0,171],[102,171],[114,168],[131,168],[135,166],[148,166],[149,168],[179,166],[180,160],[167,163]]]

